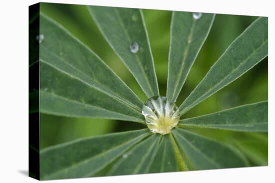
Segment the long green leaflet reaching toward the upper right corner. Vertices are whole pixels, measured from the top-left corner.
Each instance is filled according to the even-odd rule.
[[[184,114],[247,72],[267,56],[267,18],[259,17],[225,50],[206,76],[179,106]]]

